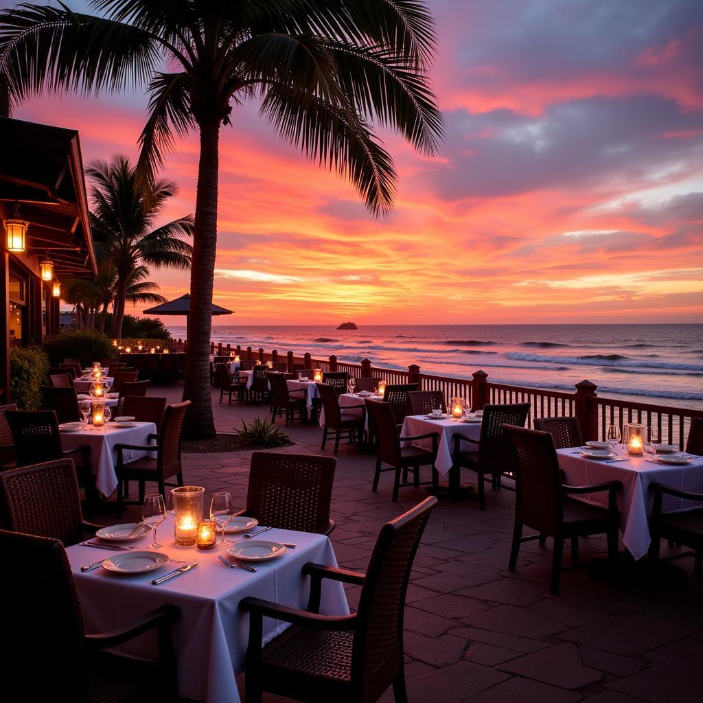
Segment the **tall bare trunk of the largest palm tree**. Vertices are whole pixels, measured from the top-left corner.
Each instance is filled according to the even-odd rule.
[[[212,285],[217,251],[219,127],[220,120],[216,117],[200,122],[200,162],[191,266],[191,314],[188,318],[188,356],[183,384],[183,400],[192,403],[184,429],[188,439],[206,439],[215,434],[209,353]]]

